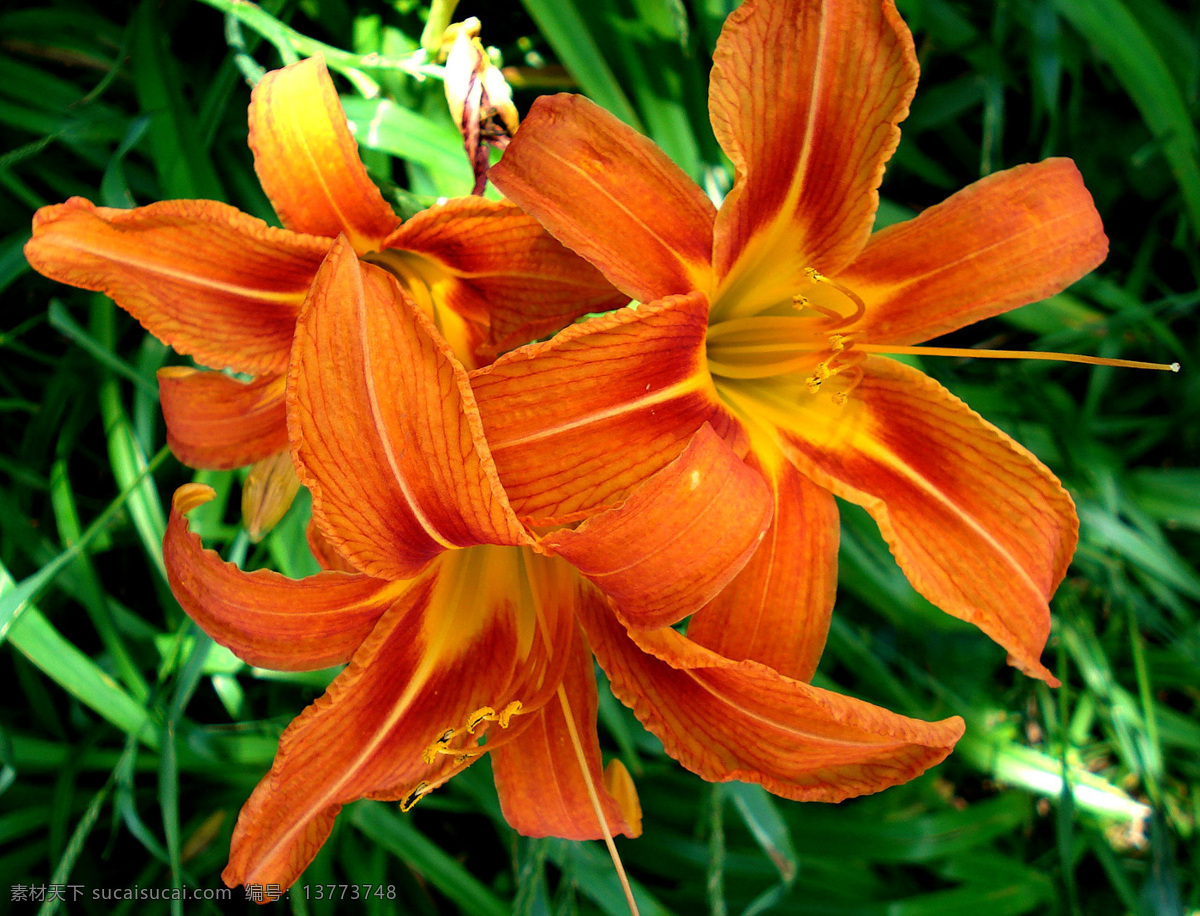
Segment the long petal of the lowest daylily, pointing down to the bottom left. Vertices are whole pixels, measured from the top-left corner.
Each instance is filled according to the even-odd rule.
[[[529,726],[562,679],[574,629],[574,615],[548,619],[554,607],[520,601],[532,556],[450,551],[413,580],[325,695],[283,732],[271,772],[238,819],[227,884],[289,886],[344,803],[415,800],[494,740]],[[514,701],[529,702],[502,720],[508,731],[494,728],[496,712]],[[488,743],[476,746],[485,734]],[[468,760],[456,760],[463,754]]]

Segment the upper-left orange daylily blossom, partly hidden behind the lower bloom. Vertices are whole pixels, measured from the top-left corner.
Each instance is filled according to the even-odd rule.
[[[275,471],[268,491],[287,483],[276,456],[292,333],[340,234],[400,279],[469,366],[628,301],[511,204],[452,199],[402,222],[367,176],[319,58],[262,79],[250,145],[283,229],[215,200],[118,210],[72,198],[37,211],[25,246],[37,271],[102,291],[178,352],[252,377],[160,371],[167,441],[186,465],[262,462]]]

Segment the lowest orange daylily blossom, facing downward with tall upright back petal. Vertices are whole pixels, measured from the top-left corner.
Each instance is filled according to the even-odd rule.
[[[194,484],[178,491],[163,545],[180,604],[241,658],[293,670],[348,661],[284,732],[239,818],[226,880],[287,887],[342,804],[408,807],[485,750],[522,833],[636,834],[628,774],[600,772],[580,623],[607,637],[604,595],[673,617],[709,601],[770,525],[760,475],[702,426],[619,507],[534,537],[496,474],[466,370],[395,277],[360,264],[344,239],[300,312],[287,409],[316,552],[353,571],[288,580],[222,562],[188,531],[186,513],[211,498]],[[680,700],[706,717],[701,729],[798,782],[906,778],[961,731],[889,719],[881,734],[886,713],[846,704],[828,716],[823,692],[757,672],[751,695],[731,696],[742,677],[714,671],[712,696]]]

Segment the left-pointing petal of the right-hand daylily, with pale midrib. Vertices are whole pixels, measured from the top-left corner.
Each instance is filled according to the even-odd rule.
[[[577,519],[619,501],[706,421],[744,454],[740,426],[704,365],[707,316],[702,295],[668,297],[572,325],[472,373],[518,514]]]

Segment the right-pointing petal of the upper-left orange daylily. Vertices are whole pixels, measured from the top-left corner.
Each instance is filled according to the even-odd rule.
[[[510,203],[446,200],[406,222],[388,247],[432,262],[414,271],[426,274],[433,301],[491,329],[493,358],[629,301]]]

